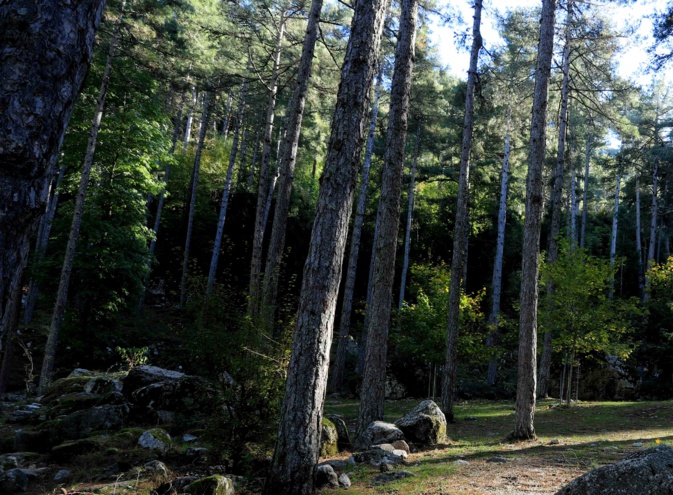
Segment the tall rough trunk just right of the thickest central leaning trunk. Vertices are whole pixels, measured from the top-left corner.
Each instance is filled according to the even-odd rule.
[[[388,327],[393,304],[404,147],[407,140],[407,116],[415,56],[418,2],[417,0],[403,0],[401,9],[397,48],[395,49],[395,69],[390,88],[388,136],[381,179],[379,230],[374,238],[372,297],[367,307],[367,313],[369,313],[367,347],[362,388],[360,389],[358,431],[364,430],[372,421],[383,419],[383,401],[386,393]]]

